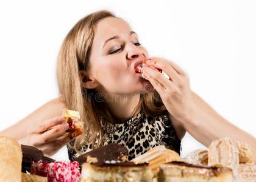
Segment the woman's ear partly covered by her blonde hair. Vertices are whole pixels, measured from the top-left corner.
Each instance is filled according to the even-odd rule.
[[[82,79],[82,86],[86,89],[95,89],[100,84],[96,78],[88,74],[84,70],[80,70],[80,78]]]

